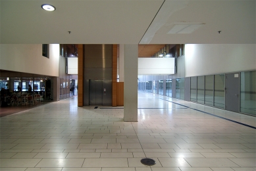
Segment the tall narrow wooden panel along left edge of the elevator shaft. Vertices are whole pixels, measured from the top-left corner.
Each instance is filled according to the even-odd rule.
[[[84,45],[78,45],[78,106],[84,106]]]

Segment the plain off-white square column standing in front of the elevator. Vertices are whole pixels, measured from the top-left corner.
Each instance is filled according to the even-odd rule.
[[[138,45],[124,45],[124,122],[138,121]]]

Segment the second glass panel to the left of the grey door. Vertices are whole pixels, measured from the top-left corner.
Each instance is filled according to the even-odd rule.
[[[214,75],[205,76],[205,104],[213,105]]]

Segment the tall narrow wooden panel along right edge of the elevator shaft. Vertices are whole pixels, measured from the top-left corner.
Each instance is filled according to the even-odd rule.
[[[117,45],[113,45],[112,48],[112,106],[116,106]]]

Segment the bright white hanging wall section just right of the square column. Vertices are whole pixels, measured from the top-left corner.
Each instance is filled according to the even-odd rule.
[[[174,74],[174,58],[138,58],[138,75]]]

